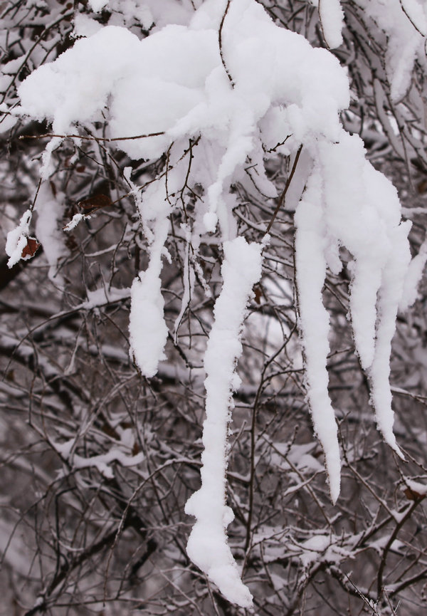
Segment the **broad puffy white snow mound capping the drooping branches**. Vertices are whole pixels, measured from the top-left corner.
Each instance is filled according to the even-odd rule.
[[[117,26],[76,41],[23,81],[20,113],[48,118],[63,134],[77,122],[102,119],[107,107],[112,138],[164,133],[117,142],[135,159],[158,157],[179,137],[203,135],[215,147],[209,186],[215,213],[236,168],[256,147],[260,120],[267,132],[274,124],[270,147],[293,135],[292,149],[292,141],[312,135],[337,139],[337,113],[349,105],[337,59],[275,26],[253,0],[233,1],[224,21],[231,88],[218,47],[221,4],[205,2],[189,26],[165,26],[142,41]],[[263,140],[269,145],[268,135]]]

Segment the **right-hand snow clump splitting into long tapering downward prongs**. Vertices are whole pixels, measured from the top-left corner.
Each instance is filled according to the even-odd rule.
[[[307,396],[325,451],[332,501],[339,494],[337,425],[327,394],[329,317],[322,303],[326,268],[339,273],[339,246],[354,261],[350,313],[354,343],[371,381],[371,403],[385,441],[393,434],[389,386],[391,339],[411,254],[411,222],[400,223],[396,189],[364,158],[362,140],[342,131],[337,143],[318,142],[307,189],[295,214],[295,261]]]

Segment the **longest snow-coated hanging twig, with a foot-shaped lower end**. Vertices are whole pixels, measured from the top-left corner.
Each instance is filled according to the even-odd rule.
[[[214,325],[204,357],[206,419],[203,425],[201,489],[186,503],[197,518],[189,537],[191,560],[229,601],[249,607],[252,597],[241,582],[227,545],[226,528],[234,515],[226,505],[227,434],[232,391],[238,387],[236,361],[242,352],[241,331],[253,285],[261,276],[261,244],[238,237],[224,244],[223,288],[214,308]]]

